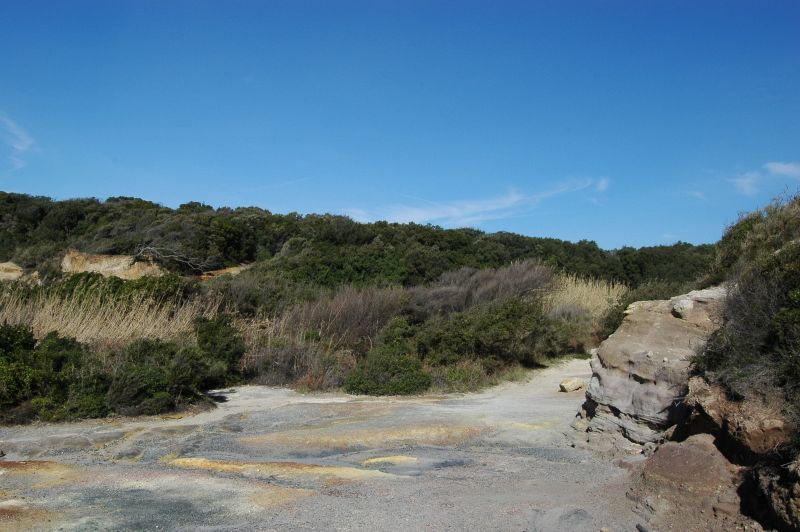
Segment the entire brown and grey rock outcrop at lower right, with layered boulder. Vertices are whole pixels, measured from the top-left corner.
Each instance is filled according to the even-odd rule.
[[[628,497],[658,529],[746,529],[757,518],[800,530],[800,456],[787,464],[776,452],[796,432],[782,392],[735,401],[689,377],[725,296],[711,288],[628,307],[592,358],[577,442],[637,464]]]

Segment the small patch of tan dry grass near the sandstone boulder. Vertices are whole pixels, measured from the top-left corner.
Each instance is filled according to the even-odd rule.
[[[621,283],[560,275],[554,282],[554,289],[545,296],[545,308],[550,314],[563,309],[583,309],[597,326],[603,314],[627,291],[628,288]]]

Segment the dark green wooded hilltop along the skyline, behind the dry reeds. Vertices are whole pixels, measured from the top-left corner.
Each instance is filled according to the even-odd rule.
[[[694,279],[705,272],[712,256],[708,245],[604,251],[586,240],[572,243],[413,223],[361,224],[343,216],[279,215],[255,207],[213,209],[191,202],[170,209],[136,198],[53,201],[0,192],[0,261],[13,260],[52,275],[68,247],[92,253],[141,252],[178,273],[259,261],[262,270],[328,287],[409,286],[462,266],[498,267],[525,258],[581,276],[638,285],[654,278]]]

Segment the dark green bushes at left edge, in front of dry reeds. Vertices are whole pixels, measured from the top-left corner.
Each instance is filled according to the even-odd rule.
[[[24,325],[0,326],[0,421],[157,414],[239,382],[244,343],[230,318],[198,318],[180,341],[141,338],[107,352]]]

